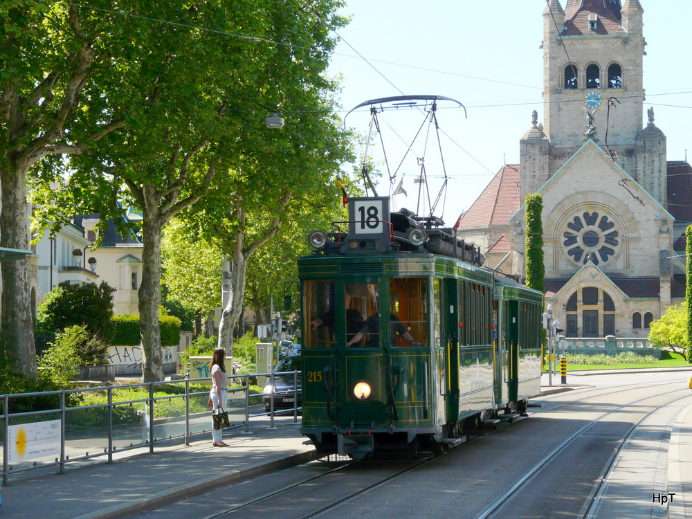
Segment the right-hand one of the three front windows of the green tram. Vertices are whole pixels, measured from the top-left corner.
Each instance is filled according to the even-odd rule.
[[[428,280],[390,280],[390,344],[428,345]]]

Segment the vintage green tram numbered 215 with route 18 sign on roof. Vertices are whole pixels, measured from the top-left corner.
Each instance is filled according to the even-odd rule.
[[[543,295],[482,267],[434,217],[349,200],[298,260],[302,434],[361,459],[444,449],[540,392]]]

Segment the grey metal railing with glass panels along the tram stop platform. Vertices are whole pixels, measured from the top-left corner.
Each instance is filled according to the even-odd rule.
[[[298,372],[293,373],[293,390],[277,392],[275,397],[291,394],[292,408],[274,410],[274,398],[268,399],[268,412],[251,414],[250,379],[267,376],[274,387],[275,373],[229,375],[226,408],[230,428],[244,427],[250,432],[250,419],[266,417],[274,427],[274,415],[293,412],[298,422]],[[2,484],[11,474],[37,468],[58,467],[94,457],[113,462],[113,455],[127,450],[149,448],[165,441],[184,441],[212,430],[207,407],[211,379],[183,379],[127,385],[107,385],[36,393],[0,395],[2,421]],[[206,384],[206,388],[203,386]],[[146,390],[147,396],[136,392]],[[283,402],[282,402],[283,403]],[[40,408],[41,410],[35,410]],[[264,408],[262,408],[264,411]]]

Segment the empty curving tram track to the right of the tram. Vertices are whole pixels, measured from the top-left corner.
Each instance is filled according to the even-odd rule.
[[[664,387],[669,387],[670,383],[650,383],[647,384],[647,387],[657,387],[657,386],[664,386]],[[622,392],[625,388],[630,387],[630,388],[641,388],[641,384],[630,384],[626,386],[620,386],[617,391],[608,391],[608,392],[598,392],[594,397],[607,397],[608,394],[613,394],[616,392]],[[596,392],[597,390],[594,390]],[[623,435],[619,441],[617,442],[617,447],[614,448],[612,453],[610,454],[610,457],[608,457],[607,461],[603,465],[603,468],[601,470],[601,473],[599,477],[597,477],[596,483],[592,486],[592,489],[586,498],[583,507],[581,507],[581,511],[579,512],[579,515],[577,517],[579,518],[592,518],[593,517],[593,511],[598,509],[599,507],[599,502],[603,498],[603,488],[605,486],[605,482],[608,481],[608,477],[614,468],[614,465],[616,464],[616,461],[618,457],[621,455],[623,452],[623,449],[626,448],[628,445],[630,439],[637,433],[639,428],[641,428],[641,424],[646,421],[646,419],[652,415],[654,415],[656,412],[659,412],[660,408],[670,406],[671,404],[684,400],[684,399],[690,399],[691,395],[689,394],[689,389],[687,388],[680,388],[680,390],[675,390],[671,393],[668,393],[667,396],[675,396],[675,394],[681,394],[680,397],[676,397],[673,399],[670,399],[663,403],[661,406],[656,405],[653,409],[649,410],[644,414],[643,416],[639,417],[635,424],[632,424],[632,426],[627,430],[626,434]],[[497,517],[505,517],[506,514],[504,512],[507,511],[507,509],[511,509],[513,505],[513,500],[515,500],[518,496],[522,495],[522,491],[525,491],[527,486],[531,483],[531,481],[535,480],[536,477],[540,476],[540,473],[544,470],[545,467],[549,466],[554,462],[558,457],[560,457],[565,451],[567,451],[569,448],[572,447],[574,442],[583,437],[585,433],[587,433],[589,430],[592,428],[596,427],[599,424],[602,424],[603,421],[605,421],[606,418],[612,417],[612,415],[615,415],[617,413],[621,412],[632,412],[632,406],[637,406],[641,405],[646,401],[651,401],[655,399],[659,399],[663,397],[663,394],[657,393],[657,394],[652,394],[648,395],[644,398],[641,399],[635,399],[632,401],[629,401],[628,403],[621,404],[611,410],[608,410],[607,412],[603,412],[599,417],[594,419],[593,421],[590,421],[589,424],[586,424],[585,426],[579,428],[578,430],[572,432],[572,434],[567,437],[565,440],[563,440],[558,446],[550,450],[549,453],[547,453],[542,459],[540,459],[534,466],[529,468],[528,471],[526,471],[512,486],[509,487],[504,493],[500,495],[500,497],[496,498],[488,507],[486,507],[480,514],[477,515],[478,519],[491,519],[491,518],[497,518]],[[540,409],[536,412],[533,412],[532,415],[536,415],[540,412],[549,412],[553,410],[558,410],[559,408],[567,407],[570,406],[572,402],[565,402],[565,403],[560,403],[556,406],[551,406],[549,408],[545,409]]]

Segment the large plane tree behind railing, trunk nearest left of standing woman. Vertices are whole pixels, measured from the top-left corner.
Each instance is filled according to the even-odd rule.
[[[102,222],[128,205],[142,212],[138,295],[145,381],[163,379],[158,304],[165,225],[210,190],[227,186],[228,177],[235,176],[231,172],[239,172],[246,185],[262,185],[266,176],[279,177],[277,152],[311,149],[311,139],[329,146],[331,136],[324,131],[301,134],[296,129],[281,138],[271,136],[264,116],[317,104],[329,110],[322,100],[336,85],[323,73],[334,46],[329,30],[343,23],[334,15],[339,5],[333,0],[309,6],[299,0],[186,5],[128,0],[118,4],[117,13],[98,10],[98,2],[77,8],[86,35],[98,33],[96,19],[111,21],[102,48],[107,57],[82,94],[86,102],[80,121],[87,127],[112,115],[124,124],[102,136],[98,147],[44,167],[44,190],[35,189],[42,204],[38,216],[59,225],[79,212],[98,212]],[[122,12],[145,12],[146,17]],[[74,138],[83,133],[82,127],[73,130]],[[320,152],[320,161],[329,162],[331,152]],[[45,189],[48,182],[53,184]],[[286,205],[281,201],[300,191],[296,185],[300,182],[282,187],[273,204],[279,212]],[[244,199],[238,192],[225,201],[238,221],[244,221],[242,203],[229,208],[228,201]]]

